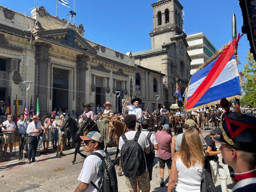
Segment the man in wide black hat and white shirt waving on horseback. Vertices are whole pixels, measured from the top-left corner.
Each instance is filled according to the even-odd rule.
[[[127,103],[130,102],[130,97],[128,97],[123,105],[123,108],[128,110],[128,115],[136,115],[136,127],[135,127],[135,131],[139,130],[140,127],[140,120],[141,120],[141,116],[142,116],[142,110],[141,108],[139,108],[139,105],[141,104],[141,99],[139,98],[134,98],[131,100],[131,104],[129,106],[126,106]]]

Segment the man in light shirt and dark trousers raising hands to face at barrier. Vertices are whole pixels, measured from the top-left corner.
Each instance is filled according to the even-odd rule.
[[[24,117],[23,114],[19,114],[18,118],[19,118],[19,121],[17,122],[17,125],[19,128],[19,133],[21,137],[20,151],[22,151],[23,153],[26,153],[25,151],[25,143],[27,139],[26,123],[28,124],[30,122],[27,121],[28,115]]]

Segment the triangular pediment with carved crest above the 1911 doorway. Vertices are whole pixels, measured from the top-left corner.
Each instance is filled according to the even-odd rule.
[[[32,30],[32,34],[36,41],[47,41],[47,43],[60,45],[66,48],[70,48],[76,51],[80,51],[84,54],[96,56],[97,51],[89,43],[82,38],[75,29],[63,28],[45,30],[41,27],[40,22],[36,22],[35,28]]]

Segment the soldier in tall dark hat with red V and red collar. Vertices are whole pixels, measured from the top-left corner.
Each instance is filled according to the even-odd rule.
[[[213,139],[221,143],[222,157],[235,171],[232,191],[255,191],[256,118],[227,111],[221,117],[221,134]]]

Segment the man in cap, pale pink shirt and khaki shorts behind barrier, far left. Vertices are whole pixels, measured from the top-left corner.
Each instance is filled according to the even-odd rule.
[[[5,133],[5,136],[4,136],[4,144],[5,144],[4,145],[4,156],[6,156],[8,143],[10,143],[10,154],[12,155],[13,143],[15,142],[15,135],[11,134],[11,133],[15,132],[16,125],[12,121],[12,119],[13,119],[13,116],[8,115],[7,120],[5,122],[3,122],[3,125],[6,128],[6,129],[4,129],[4,127],[2,128],[2,132]]]

